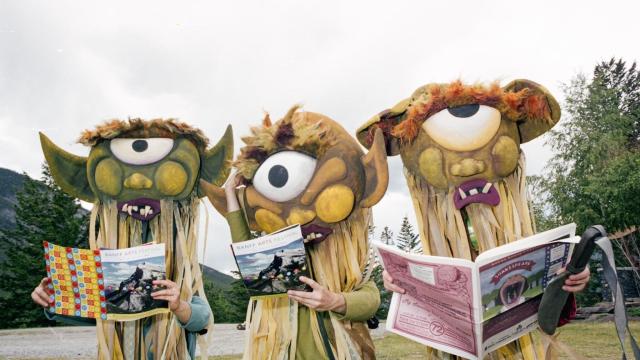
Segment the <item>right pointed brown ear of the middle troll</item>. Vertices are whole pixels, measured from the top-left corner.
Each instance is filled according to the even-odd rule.
[[[362,158],[367,184],[360,206],[365,208],[377,204],[384,196],[384,193],[387,191],[387,186],[389,185],[389,167],[387,166],[387,154],[384,143],[382,130],[377,129],[373,136],[373,142],[369,152]]]

